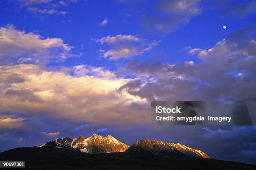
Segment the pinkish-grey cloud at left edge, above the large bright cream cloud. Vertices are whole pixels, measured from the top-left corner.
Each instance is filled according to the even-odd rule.
[[[11,25],[0,28],[0,60],[65,60],[71,56],[71,49],[61,38],[44,38]]]

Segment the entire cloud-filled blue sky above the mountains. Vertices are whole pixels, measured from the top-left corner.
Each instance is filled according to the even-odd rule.
[[[255,126],[160,126],[150,112],[256,100],[255,23],[255,0],[0,0],[0,151],[97,133],[256,164]]]

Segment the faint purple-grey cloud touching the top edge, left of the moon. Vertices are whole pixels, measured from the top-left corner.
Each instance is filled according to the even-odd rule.
[[[161,32],[177,30],[202,12],[200,0],[158,0],[153,8],[157,15],[143,15],[141,25]]]

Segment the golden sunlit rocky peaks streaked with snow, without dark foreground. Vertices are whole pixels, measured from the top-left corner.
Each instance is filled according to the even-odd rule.
[[[111,135],[103,137],[93,134],[91,137],[79,136],[74,139],[67,137],[57,138],[37,147],[44,148],[49,146],[55,148],[74,148],[90,154],[126,152],[164,160],[195,157],[210,158],[201,150],[195,150],[180,143],[174,144],[159,140],[143,139],[138,140],[129,147]]]

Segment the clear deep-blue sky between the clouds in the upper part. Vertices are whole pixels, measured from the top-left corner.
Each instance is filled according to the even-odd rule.
[[[249,2],[249,1],[248,1]],[[53,2],[49,2],[51,4]],[[226,35],[255,23],[255,17],[248,16],[245,20],[237,17],[221,17],[216,9],[211,7],[212,2],[200,2],[202,12],[200,15],[189,20],[188,24],[180,24],[177,30],[172,32],[161,32],[159,30],[145,30],[140,24],[143,15],[162,15],[154,10],[154,2],[125,3],[118,1],[78,1],[70,2],[68,6],[59,4],[59,7],[51,7],[46,3],[32,3],[24,5],[21,2],[3,1],[1,3],[1,15],[4,16],[0,24],[2,26],[12,24],[18,30],[36,32],[43,37],[60,37],[64,42],[74,47],[74,51],[82,53],[81,57],[72,57],[62,62],[61,65],[77,65],[86,63],[110,67],[116,70],[115,62],[110,60],[96,60],[99,55],[96,51],[102,48],[92,39],[100,39],[107,35],[136,35],[148,40],[161,40],[161,43],[148,52],[145,56],[136,58],[159,57],[156,53],[162,52],[166,55],[166,62],[186,61],[194,59],[191,56],[176,55],[183,47],[212,47],[216,42],[222,40]],[[237,2],[239,3],[239,2]],[[56,2],[58,4],[58,2]],[[41,14],[31,12],[29,7],[67,12],[61,14]],[[31,7],[31,8],[32,8]],[[111,11],[111,13],[110,13]],[[99,26],[105,18],[108,23]],[[222,27],[226,25],[228,29]],[[123,62],[123,61],[119,61]],[[53,63],[51,63],[53,64]],[[54,63],[56,64],[56,63]]]

